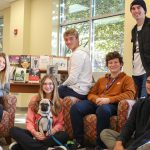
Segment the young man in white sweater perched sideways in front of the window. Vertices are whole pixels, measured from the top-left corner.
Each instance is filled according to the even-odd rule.
[[[79,46],[79,35],[75,29],[69,29],[64,33],[66,46],[72,50],[69,60],[68,78],[59,86],[60,98],[66,96],[84,100],[92,86],[92,65],[89,51]]]

